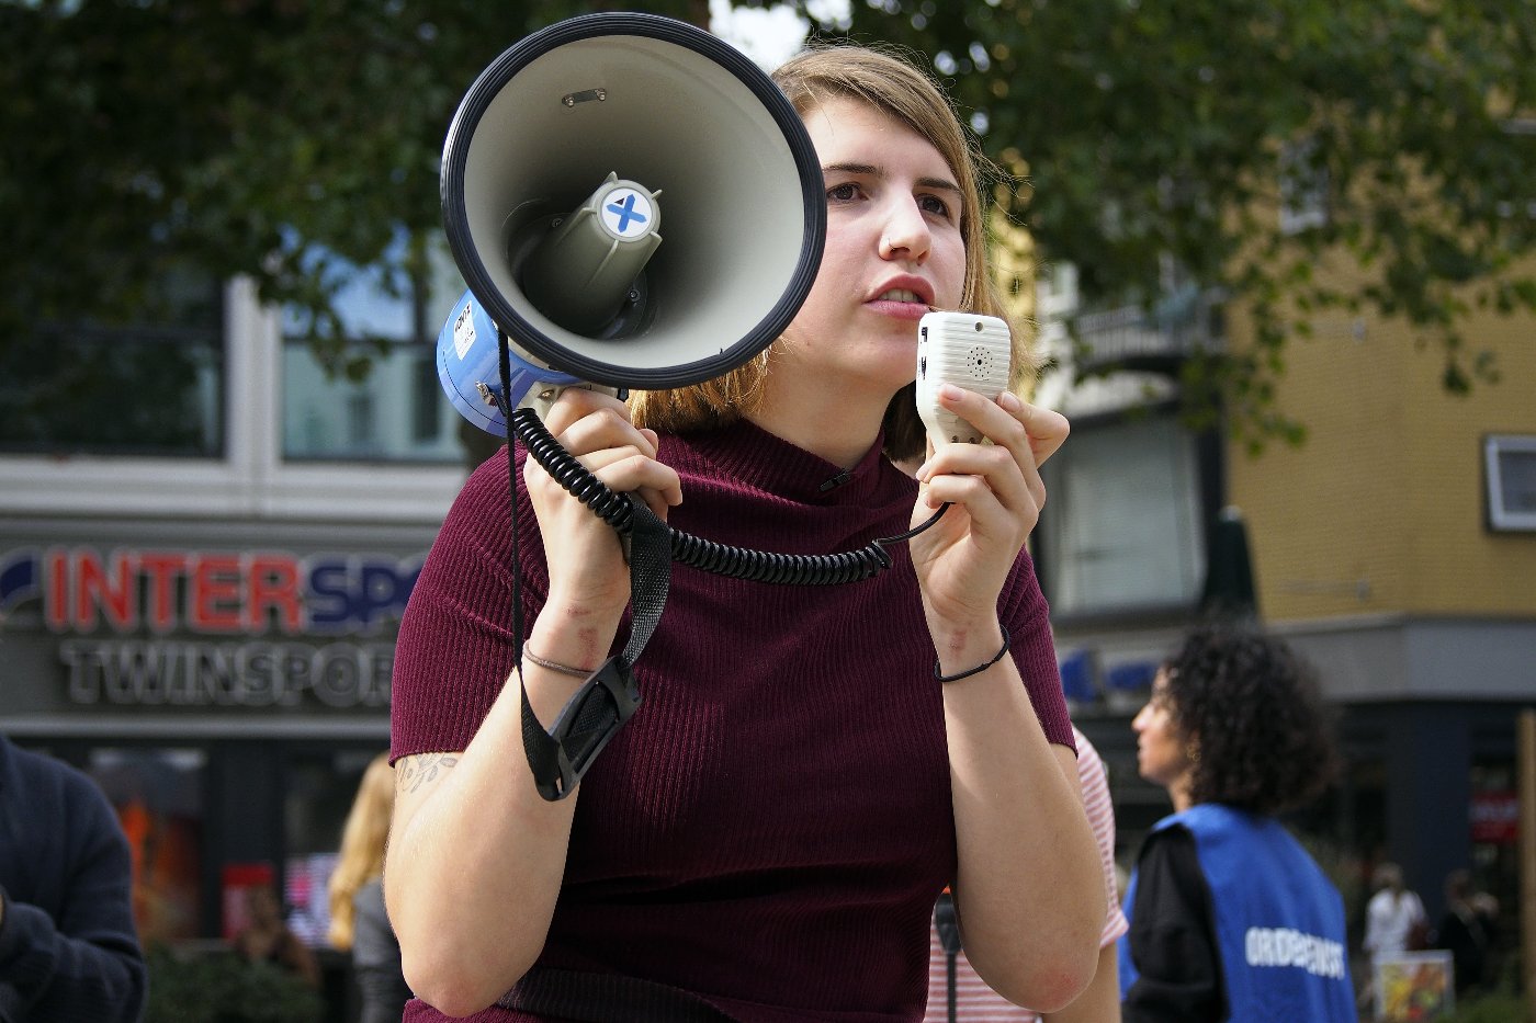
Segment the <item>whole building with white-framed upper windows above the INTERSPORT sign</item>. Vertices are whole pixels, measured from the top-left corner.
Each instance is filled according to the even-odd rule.
[[[235,281],[187,323],[61,327],[65,358],[0,384],[0,730],[103,785],[146,943],[227,939],[276,883],[326,948],[399,616],[467,464],[410,310],[353,310],[395,335],[361,382]],[[71,393],[92,363],[111,402]]]

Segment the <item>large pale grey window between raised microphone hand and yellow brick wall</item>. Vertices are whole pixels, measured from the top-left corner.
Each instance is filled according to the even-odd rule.
[[[1037,531],[1057,614],[1190,607],[1204,578],[1195,444],[1147,413],[1072,430],[1041,468]]]

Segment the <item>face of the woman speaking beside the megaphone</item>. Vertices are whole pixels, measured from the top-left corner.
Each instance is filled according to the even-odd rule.
[[[965,290],[962,194],[943,155],[856,100],[805,114],[826,189],[826,247],[785,355],[891,392],[915,376],[917,319]]]

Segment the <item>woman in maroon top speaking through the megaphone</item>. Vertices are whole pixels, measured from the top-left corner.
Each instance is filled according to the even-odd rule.
[[[507,467],[487,462],[396,653],[384,877],[410,1021],[920,1020],[946,883],[1000,992],[1049,1009],[1092,975],[1104,885],[1023,550],[1066,421],[951,389],[992,444],[943,447],[917,481],[889,461],[923,450],[917,319],[998,310],[975,157],[903,60],[819,49],[776,81],[828,203],[797,318],[727,378],[633,409],[568,390],[547,425],[608,487],[722,544],[825,555],[952,507],[865,582],[674,568],[634,670],[644,705],[550,803],[521,693],[548,725],[614,648],[630,579],[614,531],[519,461],[518,671]]]

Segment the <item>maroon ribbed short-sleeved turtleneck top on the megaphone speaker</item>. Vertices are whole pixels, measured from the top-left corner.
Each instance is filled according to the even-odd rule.
[[[905,531],[915,501],[879,445],[823,488],[839,467],[746,422],[664,436],[660,459],[682,476],[674,527],[756,550],[852,550]],[[401,624],[396,757],[468,745],[511,670],[507,521],[498,456],[455,502]],[[521,481],[519,531],[531,622],[548,576]],[[644,704],[582,782],[541,965],[680,988],[751,1023],[922,1018],[954,814],[934,647],[905,544],[891,553],[888,571],[831,587],[674,567],[636,665]],[[998,616],[1046,736],[1071,747],[1028,555]]]

